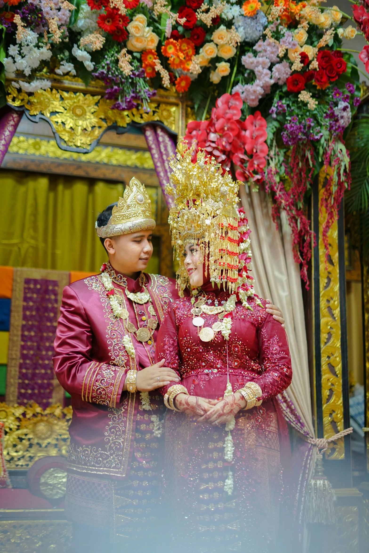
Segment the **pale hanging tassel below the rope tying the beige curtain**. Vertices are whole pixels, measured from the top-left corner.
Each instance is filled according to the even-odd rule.
[[[314,476],[311,478],[305,499],[305,521],[311,524],[334,524],[336,496],[331,484],[324,476],[323,455],[316,455]]]

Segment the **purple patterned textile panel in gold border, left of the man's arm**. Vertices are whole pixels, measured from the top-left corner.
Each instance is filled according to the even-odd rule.
[[[52,401],[58,294],[58,280],[24,279],[18,380],[20,405],[37,401],[46,409]]]

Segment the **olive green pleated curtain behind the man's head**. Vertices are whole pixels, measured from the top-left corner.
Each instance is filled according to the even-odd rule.
[[[97,271],[107,256],[96,217],[123,190],[120,182],[0,170],[0,265]],[[154,200],[157,189],[148,192]],[[158,269],[154,242],[148,272]]]

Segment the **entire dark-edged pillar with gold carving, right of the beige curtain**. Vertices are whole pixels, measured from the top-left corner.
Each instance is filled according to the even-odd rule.
[[[329,438],[350,426],[350,408],[343,205],[328,234],[329,255],[326,258],[322,232],[326,212],[319,208],[325,184],[326,174],[321,170],[312,195],[316,247],[311,280],[315,431],[318,437]],[[325,454],[325,468],[334,487],[352,486],[349,436],[331,442]]]

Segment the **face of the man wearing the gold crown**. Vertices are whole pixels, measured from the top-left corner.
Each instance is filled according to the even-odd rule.
[[[107,249],[112,266],[127,276],[145,271],[153,254],[152,231],[133,232],[106,238]]]

